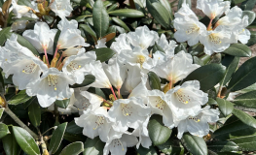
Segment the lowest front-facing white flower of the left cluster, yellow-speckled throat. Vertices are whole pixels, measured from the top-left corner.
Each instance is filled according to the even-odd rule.
[[[69,88],[75,80],[56,68],[50,68],[44,72],[38,80],[30,82],[26,86],[29,96],[37,96],[39,105],[43,108],[51,106],[55,100],[64,100],[71,97],[74,90]]]

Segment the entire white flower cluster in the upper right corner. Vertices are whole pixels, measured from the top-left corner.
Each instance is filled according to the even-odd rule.
[[[249,25],[248,16],[242,16],[242,10],[238,6],[230,9],[229,1],[222,0],[198,0],[197,8],[210,18],[206,28],[199,21],[198,16],[184,3],[181,9],[175,13],[174,34],[178,42],[188,42],[194,46],[201,42],[204,52],[211,55],[214,52],[222,52],[231,44],[246,44],[250,39],[250,31],[245,29]],[[213,25],[213,19],[219,18]]]

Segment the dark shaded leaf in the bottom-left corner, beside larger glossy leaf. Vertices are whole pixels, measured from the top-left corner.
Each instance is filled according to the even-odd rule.
[[[2,141],[6,155],[18,155],[20,153],[20,147],[13,133],[4,137]]]

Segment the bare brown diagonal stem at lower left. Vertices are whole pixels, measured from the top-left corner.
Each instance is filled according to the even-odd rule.
[[[14,119],[14,121],[17,122],[17,124],[23,128],[24,130],[26,130],[35,140],[38,139],[38,136],[32,132],[20,119],[18,119],[17,115],[8,108],[8,104],[5,107],[5,111],[10,115],[10,117],[12,117]]]

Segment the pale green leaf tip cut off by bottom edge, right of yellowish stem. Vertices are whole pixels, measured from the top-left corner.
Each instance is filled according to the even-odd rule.
[[[78,155],[84,151],[84,143],[83,142],[73,142],[67,145],[59,155]]]

